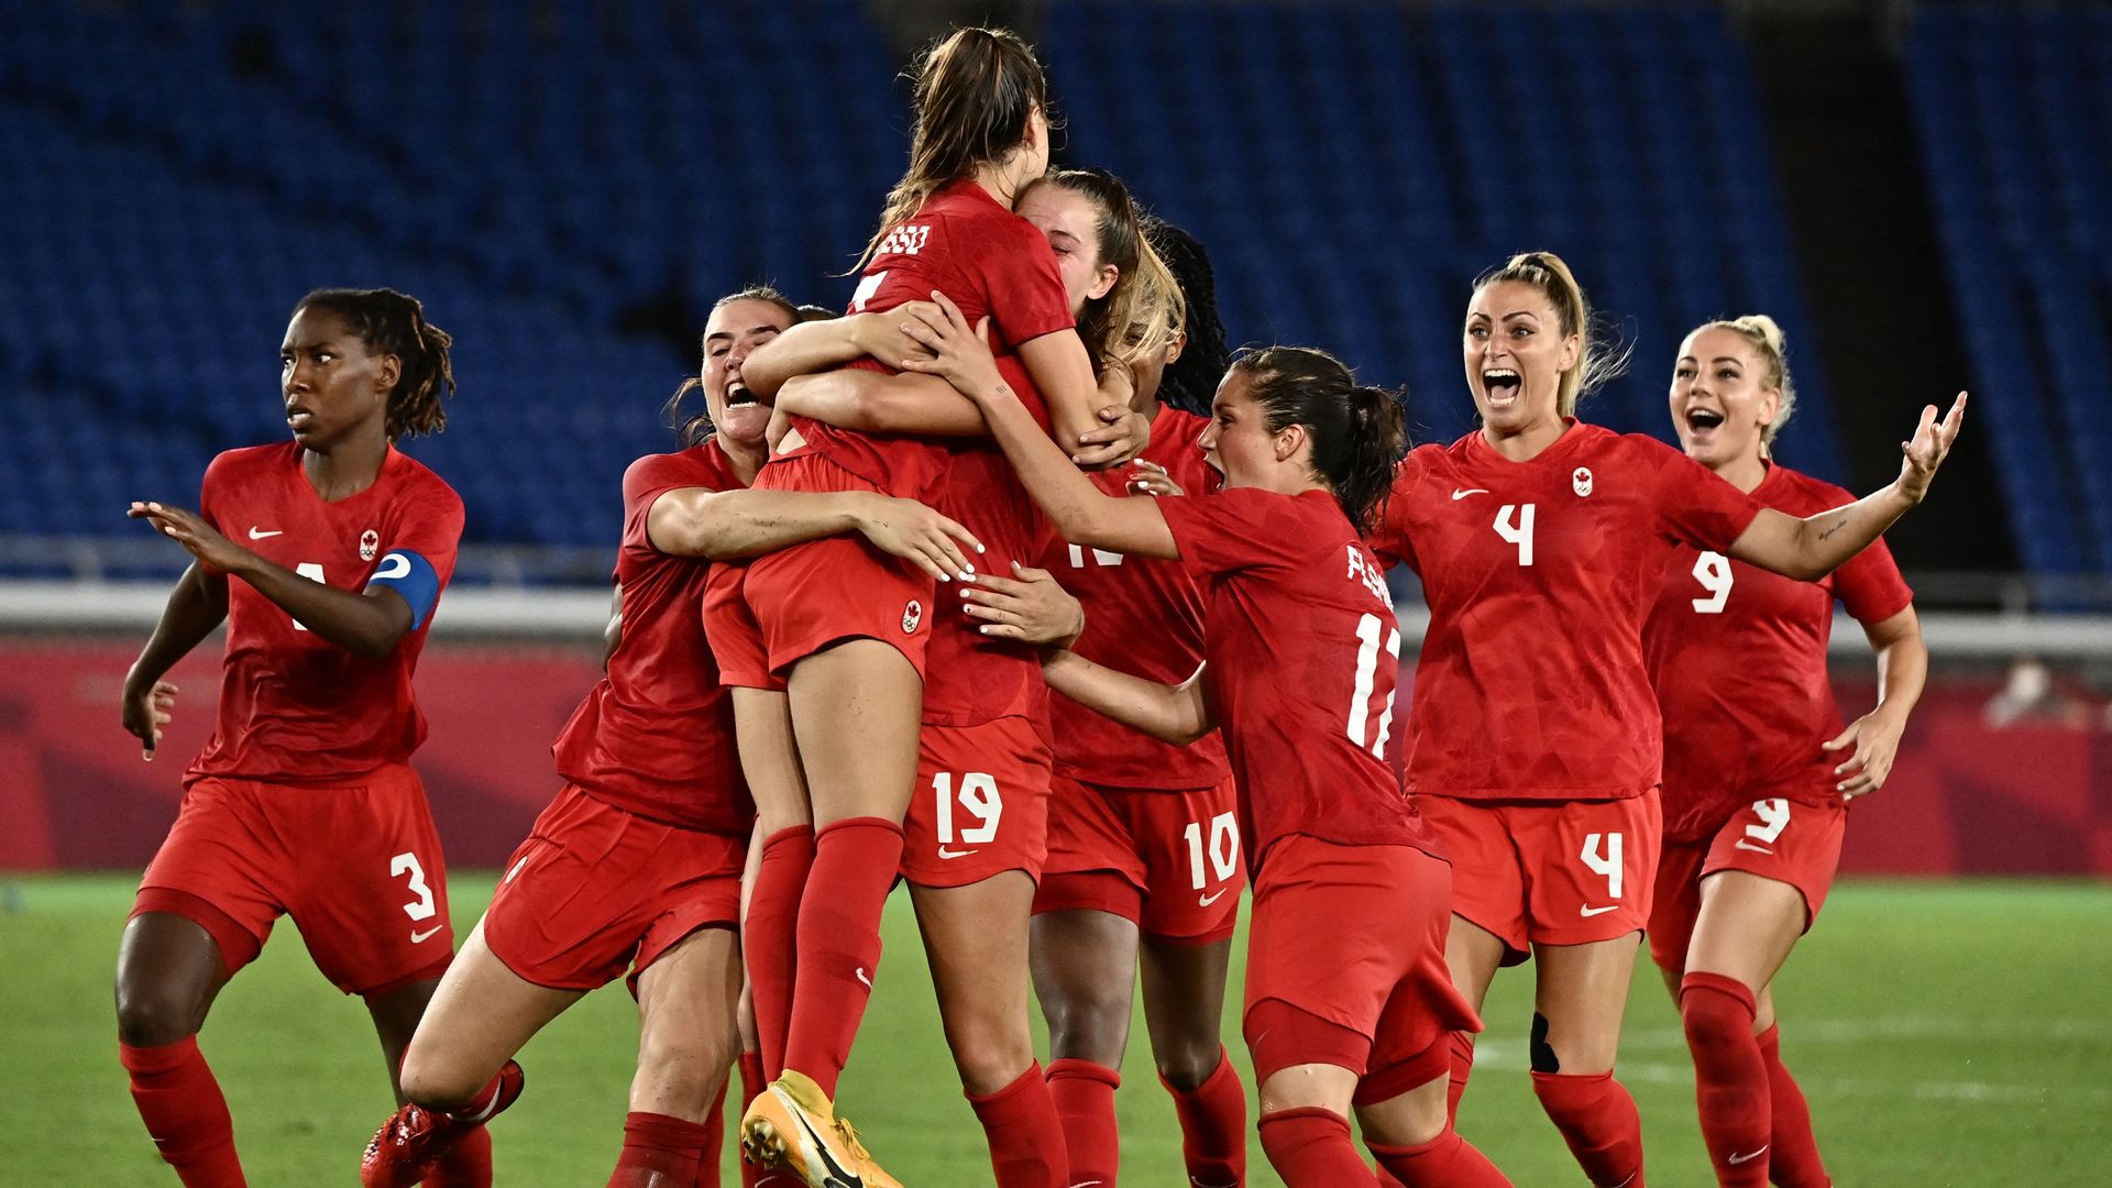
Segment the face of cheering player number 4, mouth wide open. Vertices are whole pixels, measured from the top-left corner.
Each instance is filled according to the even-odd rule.
[[[1514,433],[1557,416],[1563,372],[1582,349],[1561,326],[1548,298],[1525,281],[1474,290],[1459,347],[1483,425]]]

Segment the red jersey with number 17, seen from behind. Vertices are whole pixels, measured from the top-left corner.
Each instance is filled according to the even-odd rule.
[[[1290,835],[1436,854],[1385,761],[1394,602],[1335,497],[1240,486],[1159,509],[1206,583],[1204,681],[1240,786],[1246,869]]]

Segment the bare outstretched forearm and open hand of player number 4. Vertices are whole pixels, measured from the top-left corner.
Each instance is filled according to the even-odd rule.
[[[1964,419],[1966,393],[1962,391],[1941,423],[1935,404],[1922,408],[1922,423],[1913,429],[1913,438],[1899,444],[1905,459],[1890,486],[1846,507],[1802,520],[1770,507],[1732,541],[1730,556],[1799,581],[1818,581],[1833,573],[1884,535],[1909,507],[1928,497],[1928,484],[1937,478],[1945,454],[1951,452],[1951,442],[1958,440]]]

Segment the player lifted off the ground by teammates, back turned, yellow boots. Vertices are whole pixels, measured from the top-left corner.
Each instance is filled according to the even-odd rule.
[[[1010,32],[959,30],[923,57],[914,108],[910,167],[866,245],[851,313],[889,311],[934,287],[953,292],[997,321],[1005,351],[1048,400],[1060,440],[1086,461],[1124,454],[1117,444],[1090,448],[1088,435],[1100,429],[1094,412],[1109,402],[1094,387],[1048,243],[1012,214],[1026,182],[1048,169],[1048,87],[1033,49]],[[788,334],[750,359],[756,393],[773,397],[784,378],[813,370],[794,342]],[[855,366],[885,370],[887,361]],[[946,471],[936,442],[792,419],[756,484],[929,501]],[[758,729],[792,742],[798,776],[750,772],[769,829],[750,896],[750,979],[765,1061],[781,1046],[781,1072],[750,1103],[743,1148],[813,1186],[853,1175],[887,1184],[838,1127],[830,1099],[872,989],[881,909],[902,865],[934,579],[836,537],[754,560],[743,602],[765,649],[760,668],[786,681],[784,721]],[[735,710],[746,714],[748,704]],[[803,795],[777,805],[775,788]]]

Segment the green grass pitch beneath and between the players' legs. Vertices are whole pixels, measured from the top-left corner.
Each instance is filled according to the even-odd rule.
[[[133,1112],[114,1051],[110,970],[131,877],[0,884],[0,1180],[175,1184]],[[456,926],[467,928],[490,875],[458,877],[454,892]],[[1835,1180],[1844,1188],[2112,1184],[2108,985],[2112,886],[1844,884],[1776,987],[1785,1055],[1810,1095]],[[1529,966],[1497,977],[1459,1129],[1521,1186],[1580,1184],[1525,1076],[1529,1002]],[[1227,1025],[1244,1074],[1233,1010]],[[353,1180],[361,1146],[389,1114],[380,1048],[361,1004],[323,983],[289,924],[222,994],[203,1046],[234,1110],[251,1184]],[[492,1127],[498,1184],[602,1184],[621,1146],[634,1055],[636,1013],[621,987],[589,996],[539,1036],[522,1053],[526,1097]],[[1652,1184],[1709,1184],[1679,1019],[1649,968],[1637,970],[1620,1076],[1643,1110]],[[991,1182],[902,896],[887,915],[887,962],[843,1110],[912,1188]],[[1124,1182],[1183,1184],[1181,1137],[1143,1021],[1119,1110]],[[1259,1144],[1250,1152],[1250,1182],[1276,1186]]]

